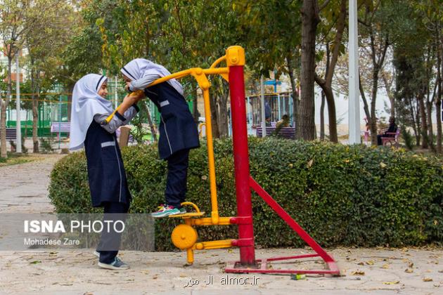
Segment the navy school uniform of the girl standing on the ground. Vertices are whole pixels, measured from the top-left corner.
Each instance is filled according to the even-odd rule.
[[[139,108],[133,106],[136,112]],[[88,164],[88,181],[92,206],[103,206],[104,220],[125,220],[129,211],[131,193],[129,192],[122,153],[117,143],[115,129],[127,122],[120,113],[115,113],[111,126],[103,128],[102,122],[108,114],[97,115],[89,126],[84,140],[84,150]],[[98,122],[96,122],[98,121]],[[121,234],[103,230],[97,251],[101,263],[112,263],[118,254]]]

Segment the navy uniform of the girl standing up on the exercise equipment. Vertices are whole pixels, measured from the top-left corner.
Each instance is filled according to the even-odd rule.
[[[158,153],[168,162],[166,203],[181,208],[186,196],[189,150],[200,147],[197,124],[184,97],[167,82],[144,92],[160,112]]]

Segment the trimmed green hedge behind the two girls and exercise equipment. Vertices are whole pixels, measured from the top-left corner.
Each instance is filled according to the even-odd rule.
[[[322,246],[419,245],[443,240],[443,161],[404,150],[250,138],[255,180]],[[214,142],[220,216],[236,215],[231,140]],[[131,212],[163,203],[166,163],[155,145],[122,150],[134,197]],[[83,152],[60,160],[49,197],[57,212],[92,212]],[[187,200],[210,213],[205,146],[192,150]],[[262,247],[304,242],[257,195],[254,229]],[[170,250],[176,220],[156,221],[156,249]],[[200,240],[237,237],[235,226],[198,228]]]

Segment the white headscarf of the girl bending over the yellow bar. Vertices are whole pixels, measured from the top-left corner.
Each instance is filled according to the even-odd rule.
[[[151,73],[152,71],[155,71],[160,75],[160,77],[165,77],[171,74],[162,65],[153,63],[150,60],[145,60],[144,58],[136,58],[135,60],[131,60],[120,71],[126,77],[131,79],[131,81],[143,78],[144,74],[148,71],[150,71]],[[181,86],[179,81],[177,81],[176,79],[170,79],[167,81],[167,83],[174,87],[174,89],[183,96],[183,87]]]

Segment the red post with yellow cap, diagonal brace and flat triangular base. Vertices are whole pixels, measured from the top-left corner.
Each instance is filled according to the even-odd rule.
[[[329,254],[321,249],[307,232],[283,208],[250,177],[248,152],[248,127],[246,124],[245,80],[243,67],[245,51],[240,46],[231,46],[226,50],[226,65],[229,67],[229,91],[231,94],[232,142],[236,177],[236,197],[238,216],[230,218],[232,224],[238,225],[238,240],[232,240],[233,246],[240,247],[240,261],[226,267],[226,273],[316,273],[340,275],[337,264]],[[280,258],[255,260],[254,228],[252,221],[251,190],[255,190],[262,199],[280,216],[316,254],[302,254]],[[268,269],[268,262],[289,259],[313,258],[321,256],[329,270],[274,270]]]

